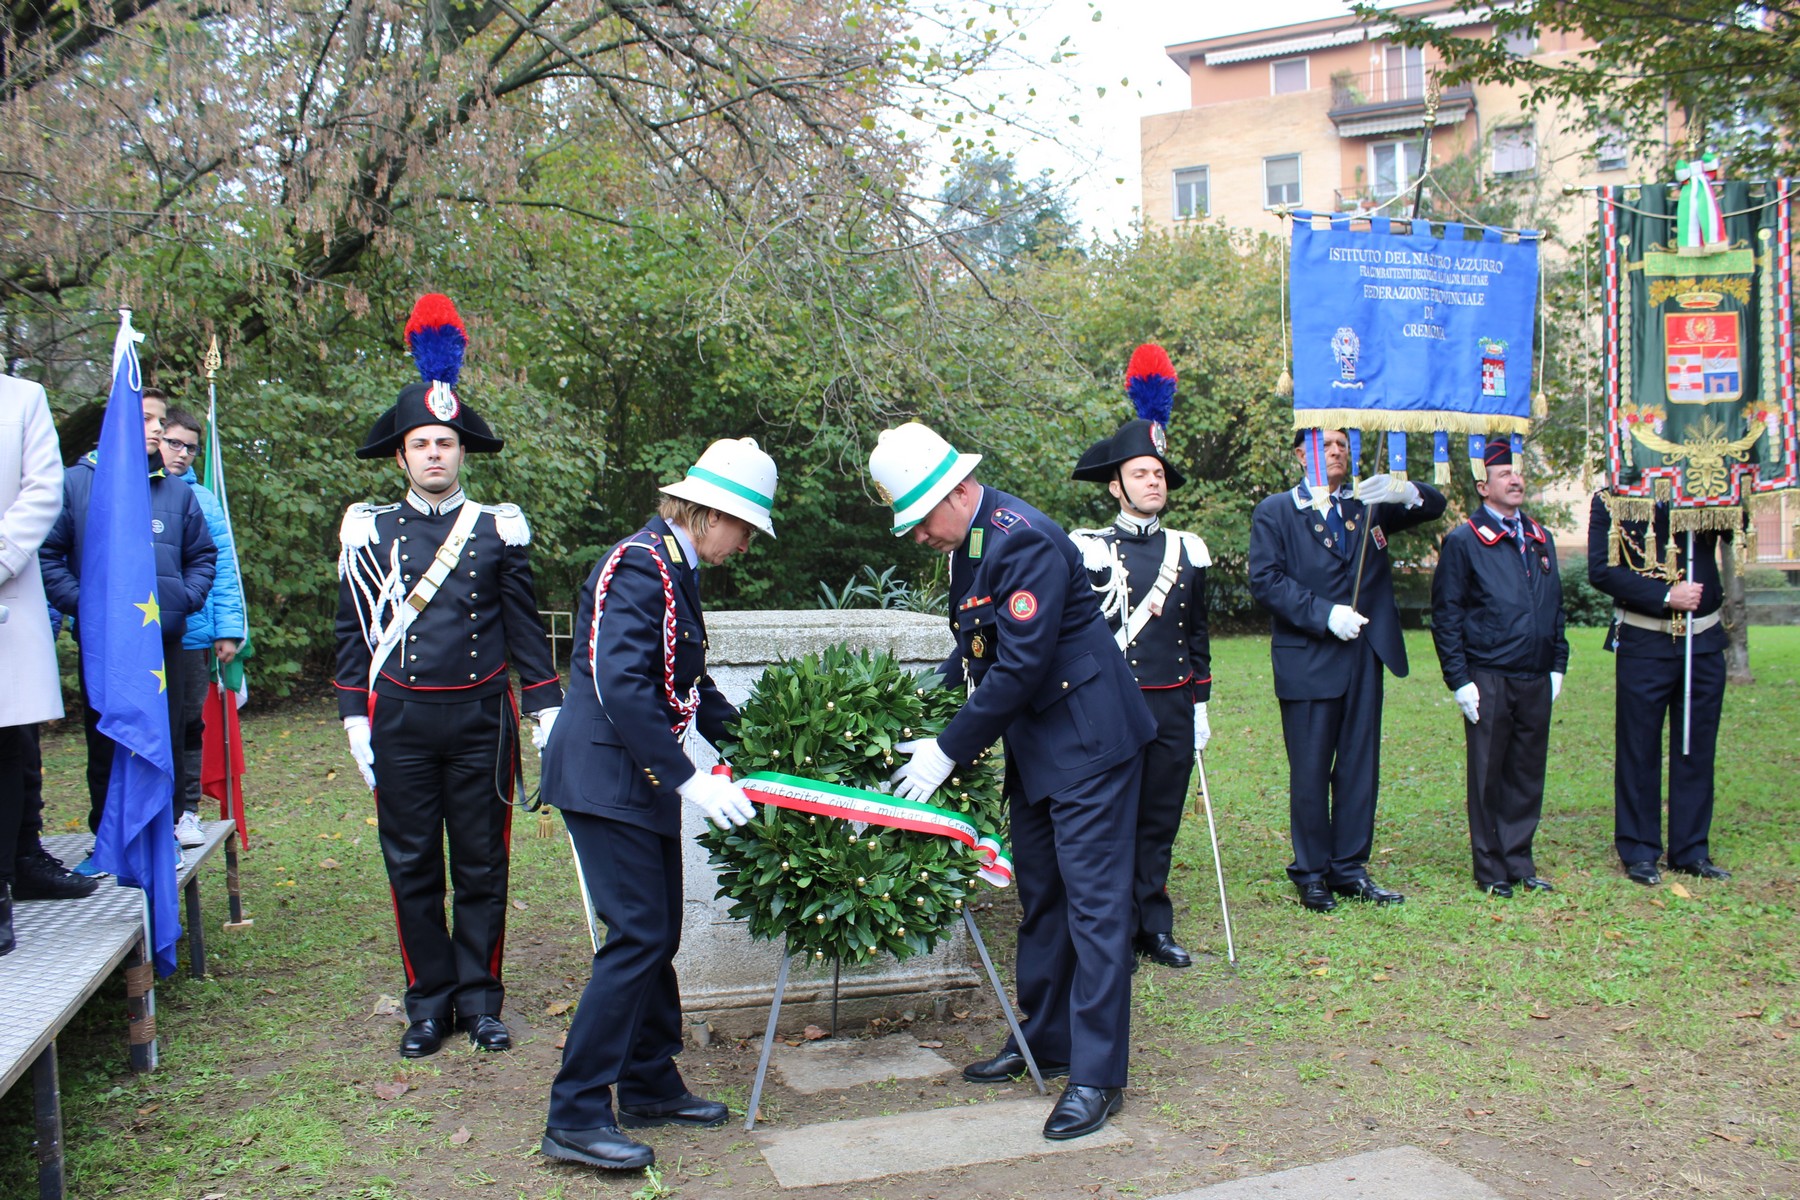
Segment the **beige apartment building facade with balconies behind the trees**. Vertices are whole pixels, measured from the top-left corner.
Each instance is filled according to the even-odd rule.
[[[1485,9],[1453,0],[1395,9],[1469,38],[1494,38]],[[1188,106],[1139,122],[1145,228],[1188,221],[1280,232],[1282,205],[1314,212],[1406,214],[1424,171],[1427,88],[1436,61],[1354,14],[1166,47],[1188,76]],[[1577,54],[1570,34],[1512,36],[1521,56]],[[1436,97],[1433,164],[1478,149],[1481,171],[1535,180],[1537,196],[1564,185],[1636,182],[1618,139],[1575,130],[1561,113],[1530,113],[1519,92],[1480,85]],[[1445,216],[1442,210],[1433,216]]]

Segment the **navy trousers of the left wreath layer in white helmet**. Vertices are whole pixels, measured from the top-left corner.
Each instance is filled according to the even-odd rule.
[[[623,820],[563,810],[594,916],[607,941],[569,1024],[547,1124],[594,1130],[614,1124],[612,1087],[596,1063],[619,1063],[621,1105],[655,1105],[686,1090],[680,1052],[680,838]]]

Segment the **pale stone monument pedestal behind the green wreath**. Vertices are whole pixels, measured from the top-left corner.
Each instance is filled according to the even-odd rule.
[[[936,667],[952,646],[943,617],[882,608],[718,612],[706,615],[706,635],[713,682],[733,703],[743,703],[772,662],[837,642],[889,653],[911,669]],[[700,770],[718,761],[713,747],[693,734],[689,754]],[[722,1036],[760,1038],[774,1000],[781,946],[751,941],[747,925],[725,916],[725,901],[715,900],[716,874],[706,847],[695,840],[702,822],[693,808],[682,806],[686,905],[680,954],[675,955],[682,1013],[695,1033],[709,1025]],[[909,1009],[923,1015],[936,1000],[967,1006],[974,1000],[970,993],[985,988],[968,934],[956,927],[929,955],[846,964],[839,982],[839,1027]],[[781,1029],[828,1027],[830,1020],[832,963],[796,959],[781,1000]]]

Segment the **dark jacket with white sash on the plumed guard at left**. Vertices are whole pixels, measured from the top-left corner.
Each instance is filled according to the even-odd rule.
[[[338,716],[369,714],[378,628],[369,628],[367,594],[389,572],[398,572],[400,594],[410,594],[450,536],[463,504],[473,502],[450,497],[443,511],[434,511],[409,491],[403,504],[353,506],[346,515],[337,615]],[[484,509],[455,567],[382,664],[374,694],[427,703],[486,700],[509,689],[511,666],[518,671],[526,712],[560,705],[562,684],[538,619],[529,542],[531,531],[517,507]],[[391,619],[389,606],[378,624]]]

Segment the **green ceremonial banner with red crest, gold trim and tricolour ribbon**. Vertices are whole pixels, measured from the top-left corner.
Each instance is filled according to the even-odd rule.
[[[1683,175],[1600,189],[1607,484],[1622,516],[1737,529],[1800,486],[1789,180]]]

